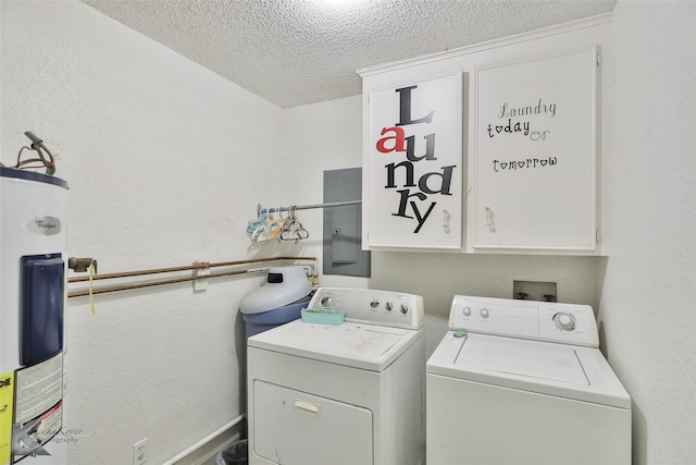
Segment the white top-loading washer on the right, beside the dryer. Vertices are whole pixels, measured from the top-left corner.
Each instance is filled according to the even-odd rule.
[[[457,295],[449,328],[426,365],[428,465],[631,463],[589,306]]]

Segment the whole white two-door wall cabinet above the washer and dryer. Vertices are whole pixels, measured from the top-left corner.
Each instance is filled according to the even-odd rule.
[[[362,70],[363,248],[601,253],[608,32],[607,15]]]

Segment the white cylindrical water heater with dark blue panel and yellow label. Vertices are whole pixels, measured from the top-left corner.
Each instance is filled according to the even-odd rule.
[[[0,465],[67,463],[67,183],[0,167]]]

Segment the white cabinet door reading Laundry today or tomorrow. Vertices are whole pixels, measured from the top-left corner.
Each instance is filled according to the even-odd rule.
[[[596,75],[595,47],[476,68],[474,250],[594,250]]]

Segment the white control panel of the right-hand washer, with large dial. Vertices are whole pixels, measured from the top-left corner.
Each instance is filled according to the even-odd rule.
[[[589,305],[456,295],[449,329],[599,346],[597,321]]]

